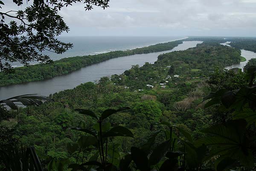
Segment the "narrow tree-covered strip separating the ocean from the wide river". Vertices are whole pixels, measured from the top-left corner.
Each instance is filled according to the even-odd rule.
[[[182,44],[182,42],[183,40],[177,40],[126,51],[111,51],[105,54],[68,57],[61,60],[56,60],[53,64],[37,64],[30,67],[14,68],[15,72],[13,74],[0,73],[0,86],[52,78],[116,57],[167,51],[178,46],[179,44]]]

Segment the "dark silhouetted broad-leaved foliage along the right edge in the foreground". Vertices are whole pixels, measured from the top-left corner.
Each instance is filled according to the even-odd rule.
[[[247,69],[247,77],[250,80],[255,78],[255,66],[250,66]],[[212,128],[205,130],[205,133],[213,134],[214,137],[206,137],[198,140],[199,144],[212,146],[210,154],[212,156],[221,155],[219,163],[229,161],[225,165],[233,165],[239,161],[247,168],[254,166],[252,150],[254,140],[246,132],[253,131],[248,127],[250,124],[255,124],[254,111],[256,110],[256,88],[255,85],[249,83],[247,87],[229,91],[221,89],[210,94],[205,98],[211,99],[206,103],[206,107],[221,103],[220,108],[224,106],[227,109],[233,109],[234,120],[225,124],[215,125]],[[222,144],[219,146],[219,144]],[[214,148],[215,147],[215,148]]]

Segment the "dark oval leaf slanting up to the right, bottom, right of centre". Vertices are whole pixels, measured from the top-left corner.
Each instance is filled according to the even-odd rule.
[[[156,165],[162,157],[167,153],[169,147],[171,146],[172,141],[167,140],[157,145],[157,147],[153,150],[152,154],[149,157],[150,165]]]

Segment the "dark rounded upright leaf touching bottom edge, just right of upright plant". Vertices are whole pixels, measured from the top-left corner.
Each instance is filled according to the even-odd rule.
[[[137,147],[131,148],[131,158],[140,171],[150,171],[147,154]]]

